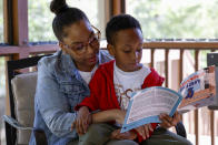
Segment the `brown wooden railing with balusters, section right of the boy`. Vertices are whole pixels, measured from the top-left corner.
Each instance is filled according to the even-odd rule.
[[[186,50],[192,50],[195,52],[195,71],[199,69],[199,52],[201,50],[210,50],[211,52],[218,50],[218,42],[145,42],[143,49],[150,50],[150,66],[155,66],[155,52],[157,50],[165,50],[165,75],[166,75],[166,86],[169,86],[169,51],[170,50],[179,50],[179,82],[184,79],[184,52]],[[178,84],[179,85],[179,84]],[[215,111],[209,111],[210,117],[210,137],[211,145],[215,145]],[[196,145],[199,145],[199,111],[196,110],[195,113],[195,135],[196,135]],[[190,122],[189,122],[190,123]]]

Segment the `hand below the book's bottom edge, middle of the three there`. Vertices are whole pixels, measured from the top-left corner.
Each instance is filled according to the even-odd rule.
[[[139,126],[135,130],[139,133],[140,136],[142,136],[143,139],[150,137],[149,136],[149,131],[153,132],[153,128],[152,128],[151,124],[146,124],[146,125]]]

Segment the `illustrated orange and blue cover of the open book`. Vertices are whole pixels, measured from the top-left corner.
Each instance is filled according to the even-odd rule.
[[[212,105],[216,100],[216,66],[199,70],[180,84],[179,93],[184,96],[178,111],[188,112],[202,106]]]

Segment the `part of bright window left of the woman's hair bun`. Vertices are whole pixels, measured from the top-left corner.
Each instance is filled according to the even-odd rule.
[[[49,9],[50,0],[28,0],[29,41],[54,41],[52,19],[54,14]]]

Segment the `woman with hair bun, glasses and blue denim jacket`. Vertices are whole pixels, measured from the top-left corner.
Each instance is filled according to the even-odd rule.
[[[38,64],[33,126],[44,131],[48,144],[65,145],[78,142],[76,130],[71,131],[78,116],[75,106],[89,95],[88,83],[98,64],[111,58],[99,51],[100,32],[81,10],[69,8],[66,0],[53,0],[50,9],[61,50]],[[33,134],[30,144],[36,144]]]

